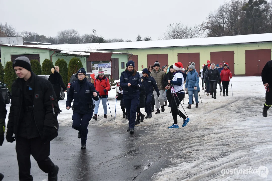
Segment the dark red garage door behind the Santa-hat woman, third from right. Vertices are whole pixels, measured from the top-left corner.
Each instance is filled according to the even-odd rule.
[[[199,72],[199,53],[178,53],[178,62],[181,62],[183,65],[183,68],[186,69],[187,65],[191,64],[191,62],[194,62],[196,71]]]

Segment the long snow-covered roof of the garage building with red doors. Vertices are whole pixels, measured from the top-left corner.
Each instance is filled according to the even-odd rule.
[[[180,47],[180,46],[208,46],[228,45],[241,43],[272,42],[272,33],[249,34],[239,36],[223,36],[194,39],[175,40],[153,40],[142,42],[117,42],[117,43],[85,43],[85,44],[58,44],[58,45],[28,45],[33,47],[47,47],[67,51],[90,51],[90,50],[116,50],[116,49],[141,49],[159,47]]]

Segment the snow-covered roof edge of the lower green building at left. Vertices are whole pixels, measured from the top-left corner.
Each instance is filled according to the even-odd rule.
[[[64,44],[68,45],[68,44]],[[76,44],[69,44],[71,46]],[[51,45],[11,45],[11,44],[1,44],[0,46],[17,46],[17,47],[24,47],[24,48],[40,48],[40,49],[48,49],[48,50],[55,50],[60,51],[60,53],[66,53],[70,55],[90,55],[90,53],[112,53],[112,54],[125,54],[125,55],[132,55],[132,53],[125,53],[125,52],[107,52],[107,51],[99,51],[93,49],[71,49],[71,48],[61,48],[53,47]]]

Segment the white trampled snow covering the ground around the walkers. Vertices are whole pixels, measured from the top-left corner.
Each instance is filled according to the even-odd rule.
[[[137,129],[150,131],[148,136],[141,137],[146,144],[156,144],[158,152],[166,150],[172,153],[171,157],[166,158],[172,164],[154,173],[153,180],[272,180],[272,112],[268,110],[267,118],[262,117],[265,88],[261,77],[233,77],[232,85],[233,96],[230,86],[228,97],[222,97],[218,92],[217,99],[211,96],[207,99],[204,92],[200,91],[203,103],[199,99],[199,108],[193,104],[192,109],[186,109],[186,95],[185,104],[182,105],[190,122],[184,128],[179,119],[179,129],[167,129],[173,124],[168,106],[165,112],[153,112],[151,119],[144,119],[144,122],[135,126],[136,132]],[[124,130],[127,128],[128,121],[122,117],[120,101],[117,101],[114,119],[115,95],[115,89],[109,91],[113,118],[109,109],[108,119],[103,118],[101,102],[99,117],[97,121],[92,119],[89,122],[90,127],[106,125],[123,127]],[[60,126],[72,126],[73,112],[65,109],[65,102],[66,98],[59,101],[62,112],[58,115],[58,121]],[[7,104],[7,110],[9,107],[10,104]],[[181,106],[179,109],[184,113]],[[141,110],[144,113],[144,109]],[[259,167],[261,173],[258,174],[256,169]],[[240,169],[244,171],[241,173]]]

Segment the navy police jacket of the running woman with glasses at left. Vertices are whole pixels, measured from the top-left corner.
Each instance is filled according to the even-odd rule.
[[[72,100],[74,99],[74,112],[80,114],[93,113],[93,101],[99,99],[99,94],[93,96],[93,92],[97,92],[94,88],[94,84],[88,82],[86,78],[83,81],[77,80],[70,85],[69,93],[67,94],[66,107],[71,107]]]

